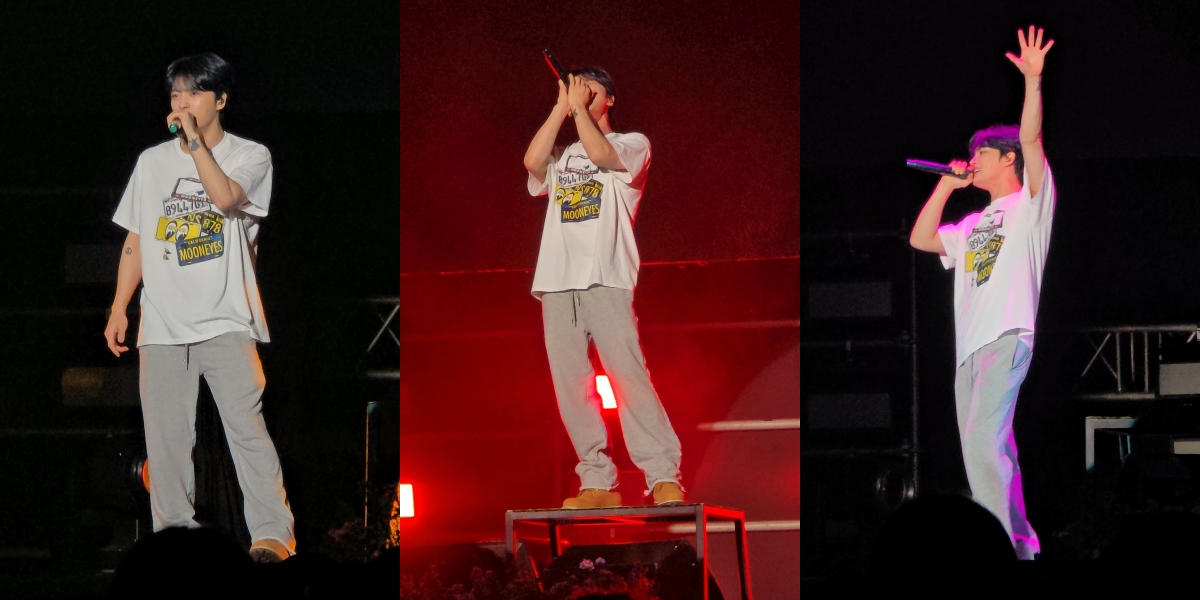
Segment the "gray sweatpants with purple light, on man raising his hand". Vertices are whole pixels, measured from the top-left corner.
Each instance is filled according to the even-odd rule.
[[[1000,518],[1022,559],[1040,552],[1038,535],[1025,518],[1021,467],[1013,437],[1016,396],[1032,358],[1031,348],[1012,330],[971,354],[954,377],[971,494]]]

